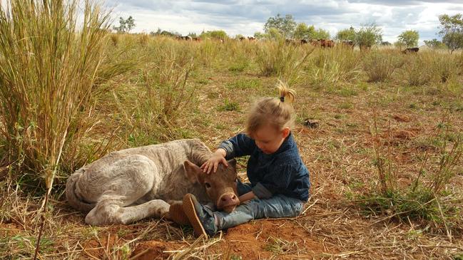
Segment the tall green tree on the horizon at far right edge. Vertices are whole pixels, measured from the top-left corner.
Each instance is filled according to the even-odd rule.
[[[463,48],[463,15],[442,14],[439,16],[439,21],[441,24],[439,35],[442,36],[442,42],[449,47],[450,53]]]

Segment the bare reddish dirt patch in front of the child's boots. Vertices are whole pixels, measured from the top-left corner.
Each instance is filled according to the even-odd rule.
[[[203,250],[205,254],[240,256],[242,259],[285,259],[297,254],[320,255],[325,247],[295,222],[283,219],[265,219],[228,229],[223,239],[207,246],[198,244],[191,253]],[[167,259],[190,246],[186,241],[143,241],[137,244],[131,257],[137,259]],[[332,253],[332,249],[330,249]]]

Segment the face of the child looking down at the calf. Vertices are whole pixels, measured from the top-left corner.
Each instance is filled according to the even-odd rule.
[[[254,134],[255,145],[267,155],[276,152],[285,138],[290,134],[290,128],[278,130],[271,125],[259,128]]]

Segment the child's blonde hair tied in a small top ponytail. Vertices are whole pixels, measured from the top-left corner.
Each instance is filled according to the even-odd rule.
[[[294,124],[294,108],[292,102],[296,93],[278,80],[278,98],[262,98],[250,109],[246,122],[246,133],[253,137],[255,132],[264,125],[270,125],[277,130],[291,128]]]

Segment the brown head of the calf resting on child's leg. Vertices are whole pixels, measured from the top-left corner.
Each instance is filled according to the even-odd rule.
[[[240,204],[236,192],[236,160],[229,160],[228,167],[220,164],[217,172],[210,174],[203,172],[193,162],[185,161],[185,172],[192,183],[199,182],[205,187],[205,192],[215,203],[218,209],[225,212],[233,212]]]

